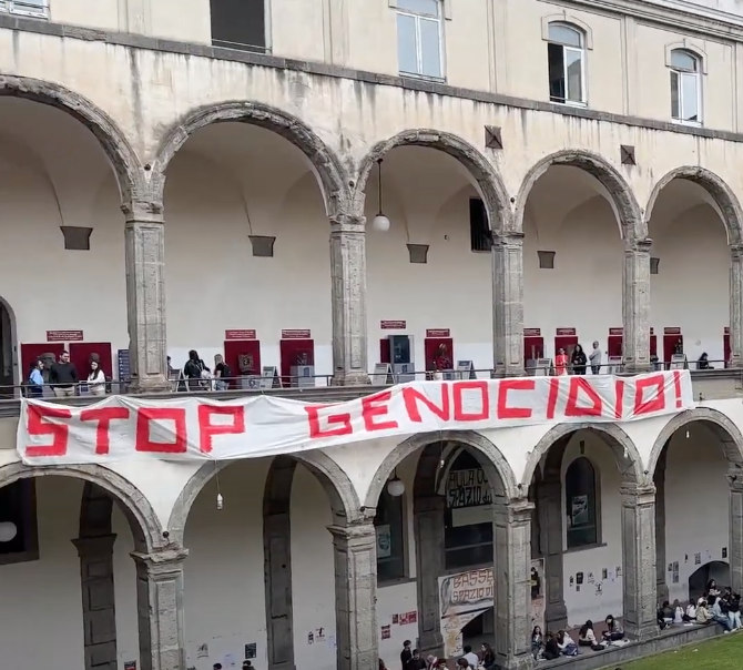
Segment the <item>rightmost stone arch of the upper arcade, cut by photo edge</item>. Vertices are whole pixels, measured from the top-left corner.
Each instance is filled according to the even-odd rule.
[[[658,196],[673,180],[685,180],[702,186],[709,193],[717,214],[722,219],[727,234],[727,244],[741,244],[743,242],[743,210],[737,196],[722,177],[696,165],[684,165],[671,170],[653,186],[645,207],[645,226],[650,223]]]

